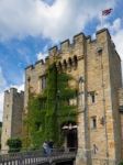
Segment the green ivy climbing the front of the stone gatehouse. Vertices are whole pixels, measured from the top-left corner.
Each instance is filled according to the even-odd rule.
[[[76,97],[76,89],[70,89],[68,85],[71,79],[69,75],[58,73],[53,64],[47,69],[44,92],[30,94],[26,124],[31,146],[38,147],[49,140],[56,145],[62,145],[62,124],[76,122],[76,106],[69,105],[69,100]]]

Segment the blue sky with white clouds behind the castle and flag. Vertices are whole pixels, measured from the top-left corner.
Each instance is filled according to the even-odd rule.
[[[102,11],[113,9],[102,16]],[[24,68],[77,33],[108,28],[123,61],[122,0],[0,0],[0,121],[3,92],[24,89]]]

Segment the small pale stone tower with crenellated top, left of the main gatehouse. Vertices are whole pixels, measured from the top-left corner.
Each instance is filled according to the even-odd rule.
[[[1,151],[8,152],[7,141],[10,138],[20,138],[22,134],[22,111],[24,92],[15,88],[4,91],[3,124],[1,135]]]

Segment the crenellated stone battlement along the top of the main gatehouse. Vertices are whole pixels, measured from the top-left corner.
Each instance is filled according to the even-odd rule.
[[[26,70],[33,70],[35,68],[44,68],[44,66],[47,64],[47,62],[53,62],[53,56],[57,57],[58,55],[60,55],[59,57],[64,56],[64,59],[68,61],[69,57],[74,57],[74,56],[78,56],[78,58],[80,58],[80,56],[83,56],[85,54],[85,45],[86,44],[101,44],[100,41],[108,41],[111,40],[110,33],[108,31],[108,29],[102,29],[100,31],[98,31],[96,33],[96,38],[92,40],[91,35],[85,35],[83,33],[79,33],[77,35],[75,35],[72,37],[72,42],[70,43],[70,41],[67,38],[65,41],[63,41],[58,46],[54,46],[52,48],[48,50],[48,56],[45,58],[45,61],[41,59],[37,61],[34,65],[30,65],[27,66],[25,69]],[[112,42],[112,41],[111,41]],[[77,50],[79,50],[77,52]],[[81,52],[80,52],[81,50]],[[71,55],[72,52],[72,55]],[[69,57],[66,55],[69,54]],[[66,57],[65,57],[66,56]],[[63,61],[64,61],[63,59]]]

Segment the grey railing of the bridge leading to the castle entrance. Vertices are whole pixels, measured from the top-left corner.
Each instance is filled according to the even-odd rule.
[[[45,155],[43,150],[10,153],[0,155],[0,165],[34,165],[38,163],[51,163],[62,160],[72,160],[76,157],[76,150],[53,148],[49,155]]]

